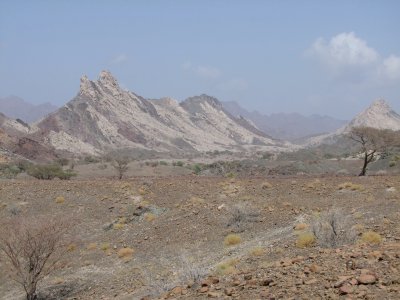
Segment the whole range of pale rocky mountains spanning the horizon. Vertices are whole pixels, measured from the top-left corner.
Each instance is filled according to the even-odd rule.
[[[375,101],[344,125],[330,117],[294,116],[292,120],[297,121],[286,124],[287,133],[281,132],[281,136],[299,136],[298,132],[289,133],[296,126],[303,126],[303,134],[307,126],[310,134],[313,126],[317,133],[334,129],[306,139],[302,147],[332,143],[354,126],[400,130],[400,116],[384,100]],[[124,148],[177,154],[291,151],[300,146],[272,138],[262,127],[276,119],[288,123],[290,117],[293,115],[246,113],[235,103],[221,103],[204,94],[180,103],[172,98],[145,99],[122,89],[110,72],[102,71],[97,80],[83,76],[71,101],[35,123],[28,125],[0,114],[0,152],[35,159],[65,152],[98,155]]]

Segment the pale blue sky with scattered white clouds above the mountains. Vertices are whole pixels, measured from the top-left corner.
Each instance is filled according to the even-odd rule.
[[[109,70],[124,89],[264,114],[400,112],[400,1],[0,0],[0,97],[62,106]]]

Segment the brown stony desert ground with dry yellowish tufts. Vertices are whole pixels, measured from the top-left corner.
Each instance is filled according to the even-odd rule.
[[[0,181],[0,217],[75,222],[41,299],[398,299],[399,179],[22,177]],[[308,240],[329,212],[337,241]],[[0,298],[24,299],[5,261],[0,270]]]

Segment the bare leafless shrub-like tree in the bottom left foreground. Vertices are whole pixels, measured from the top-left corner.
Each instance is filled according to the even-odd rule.
[[[37,284],[53,272],[67,253],[72,222],[53,217],[13,217],[0,224],[0,256],[11,278],[22,285],[27,300],[37,299]]]

